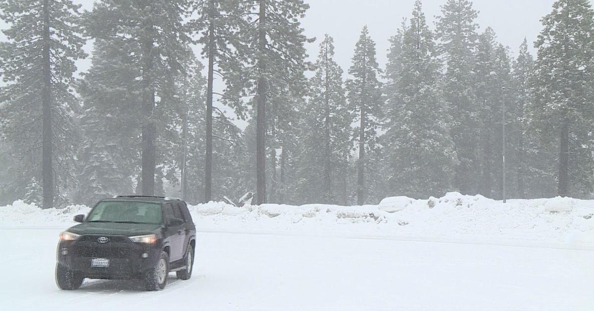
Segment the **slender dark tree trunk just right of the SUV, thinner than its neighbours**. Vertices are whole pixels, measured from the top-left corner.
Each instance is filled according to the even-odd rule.
[[[208,2],[208,82],[206,89],[206,154],[204,155],[204,203],[213,195],[213,80],[214,80],[214,0]]]

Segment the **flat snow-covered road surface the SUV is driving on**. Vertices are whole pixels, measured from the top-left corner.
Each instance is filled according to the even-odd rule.
[[[594,252],[202,232],[189,281],[53,278],[60,228],[2,229],[1,310],[594,310]]]

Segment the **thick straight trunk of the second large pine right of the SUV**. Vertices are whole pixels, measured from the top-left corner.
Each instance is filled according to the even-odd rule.
[[[258,101],[256,108],[256,204],[266,203],[266,78],[264,61],[266,54],[266,0],[260,0],[260,20],[258,24]]]

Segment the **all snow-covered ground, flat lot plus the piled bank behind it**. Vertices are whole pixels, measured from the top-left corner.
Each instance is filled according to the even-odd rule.
[[[447,194],[379,206],[191,207],[189,281],[59,291],[58,233],[88,207],[0,207],[0,310],[594,310],[594,204]]]

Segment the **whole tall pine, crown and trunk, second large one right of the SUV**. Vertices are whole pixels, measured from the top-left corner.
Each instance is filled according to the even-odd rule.
[[[262,204],[267,200],[266,132],[269,131],[271,142],[275,142],[278,139],[274,130],[284,121],[279,115],[267,116],[270,110],[267,104],[274,105],[272,111],[286,111],[290,108],[287,105],[299,98],[304,89],[304,71],[308,66],[304,44],[311,40],[304,36],[299,18],[309,5],[302,0],[241,0],[238,5],[246,13],[239,28],[241,44],[236,46],[236,57],[250,65],[236,73],[232,84],[237,86],[228,91],[233,98],[256,94],[255,202]],[[271,159],[276,163],[276,156],[272,154]],[[276,164],[273,168],[276,169]]]

